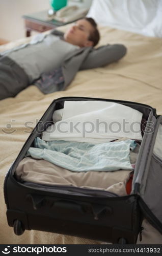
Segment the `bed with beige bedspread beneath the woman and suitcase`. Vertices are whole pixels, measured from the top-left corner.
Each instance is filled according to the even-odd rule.
[[[96,1],[94,1],[96,2]],[[105,2],[105,1],[104,1]],[[91,9],[89,15],[95,17]],[[97,21],[97,20],[96,20]],[[106,25],[106,24],[104,24]],[[60,27],[65,31],[67,26]],[[6,219],[3,195],[5,175],[18,155],[48,105],[53,99],[67,96],[96,97],[141,102],[156,108],[162,115],[162,44],[161,38],[146,36],[99,25],[100,45],[124,44],[126,56],[116,63],[102,68],[79,71],[65,91],[44,95],[31,85],[14,98],[0,101],[1,113],[1,162],[0,162],[0,243],[1,244],[103,244],[98,241],[64,236],[41,231],[25,231],[22,236],[14,234]],[[138,31],[136,31],[138,32]],[[49,33],[46,32],[46,33]],[[22,38],[1,46],[0,51],[11,49],[31,38]],[[162,236],[146,220],[143,222],[143,240],[138,244],[161,244]]]

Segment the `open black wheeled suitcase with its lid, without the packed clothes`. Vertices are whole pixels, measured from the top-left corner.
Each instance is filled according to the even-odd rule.
[[[15,170],[44,125],[52,122],[53,111],[64,101],[99,100],[116,102],[143,113],[147,120],[130,195],[117,196],[102,190],[59,187],[20,182]],[[161,140],[161,141],[160,141]],[[25,229],[68,234],[109,243],[136,244],[146,218],[162,234],[162,116],[151,106],[120,100],[64,97],[53,100],[10,167],[4,195],[8,225],[21,235]],[[142,236],[141,236],[142,237]]]

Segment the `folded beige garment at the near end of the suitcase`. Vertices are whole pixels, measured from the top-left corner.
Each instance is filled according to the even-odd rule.
[[[130,172],[130,170],[117,170],[75,173],[43,159],[26,157],[18,164],[16,176],[18,180],[26,182],[105,189],[123,196],[126,194],[125,182]]]

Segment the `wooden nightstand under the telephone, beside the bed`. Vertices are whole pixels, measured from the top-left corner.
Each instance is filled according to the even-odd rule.
[[[44,32],[67,23],[58,22],[57,20],[48,20],[48,10],[22,16],[25,22],[26,36],[31,35],[31,31]]]

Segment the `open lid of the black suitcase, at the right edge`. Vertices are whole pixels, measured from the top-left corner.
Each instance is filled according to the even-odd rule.
[[[162,234],[162,116],[151,121],[154,125],[141,144],[133,193],[140,195],[145,218]]]

